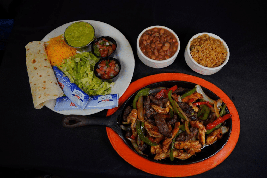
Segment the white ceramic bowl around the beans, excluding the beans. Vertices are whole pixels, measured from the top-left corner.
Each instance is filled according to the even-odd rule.
[[[177,41],[178,41],[178,48],[177,48],[177,51],[176,53],[170,57],[169,59],[166,59],[166,60],[162,60],[162,61],[157,61],[157,60],[153,60],[153,59],[150,59],[148,58],[147,56],[144,55],[144,53],[141,51],[140,47],[139,47],[139,40],[140,40],[140,37],[141,35],[146,31],[146,30],[149,30],[149,29],[153,29],[155,27],[158,27],[158,28],[164,28],[166,30],[169,30],[172,34],[174,34],[174,36],[176,37]],[[164,68],[164,67],[167,67],[169,65],[171,65],[174,60],[176,59],[178,53],[179,53],[179,50],[180,50],[180,40],[178,38],[178,36],[176,35],[176,33],[174,31],[172,31],[171,29],[169,29],[168,27],[164,27],[164,26],[160,26],[160,25],[155,25],[155,26],[151,26],[151,27],[147,27],[146,29],[144,29],[138,36],[137,38],[137,42],[136,42],[136,47],[137,47],[137,55],[139,57],[139,59],[144,63],[146,64],[147,66],[149,67],[152,67],[152,68]]]

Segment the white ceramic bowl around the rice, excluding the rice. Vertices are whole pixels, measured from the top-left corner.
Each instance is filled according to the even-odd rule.
[[[214,37],[216,39],[219,39],[221,40],[221,42],[223,42],[223,45],[225,46],[225,48],[227,49],[227,55],[226,55],[226,59],[225,61],[223,62],[222,65],[218,66],[218,67],[214,67],[214,68],[209,68],[209,67],[204,67],[200,64],[198,64],[194,59],[193,57],[191,56],[190,54],[190,42],[194,39],[194,38],[197,38],[199,35],[203,35],[203,34],[207,34],[209,35],[210,37]],[[229,61],[229,57],[230,57],[230,52],[229,52],[229,48],[227,46],[227,44],[225,43],[225,41],[223,41],[222,38],[218,37],[217,35],[215,34],[212,34],[212,33],[198,33],[196,35],[194,35],[190,40],[189,42],[187,43],[187,46],[184,50],[184,58],[185,58],[185,61],[187,63],[187,65],[192,69],[194,70],[195,72],[199,73],[199,74],[203,74],[203,75],[210,75],[210,74],[214,74],[216,72],[218,72],[219,70],[221,70],[223,68],[223,66],[226,65],[226,63]]]

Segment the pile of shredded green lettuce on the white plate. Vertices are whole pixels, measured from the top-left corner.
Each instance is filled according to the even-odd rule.
[[[76,54],[64,59],[64,64],[59,69],[85,93],[90,96],[110,94],[114,82],[103,82],[93,72],[94,66],[99,59],[91,51]]]

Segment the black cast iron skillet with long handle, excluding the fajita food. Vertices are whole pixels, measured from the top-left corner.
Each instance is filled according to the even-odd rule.
[[[144,88],[150,88],[150,89],[157,88],[157,87],[170,88],[174,85],[177,85],[178,87],[182,86],[184,88],[192,89],[197,84],[194,84],[191,82],[186,82],[186,81],[163,81],[163,82],[157,82],[157,83],[148,85]],[[144,89],[144,88],[142,88],[142,89]],[[215,93],[211,92],[210,90],[208,90],[204,87],[202,87],[202,89],[205,92],[205,94],[207,96],[209,96],[211,99],[213,99],[213,100],[219,99],[219,97]],[[127,144],[133,151],[135,151],[132,143],[124,137],[126,131],[124,131],[120,128],[120,123],[121,123],[121,121],[123,121],[123,112],[124,112],[125,108],[129,105],[132,105],[132,102],[133,102],[133,99],[134,99],[136,93],[139,92],[140,90],[133,93],[119,107],[119,109],[111,116],[108,116],[108,117],[90,117],[90,116],[80,116],[80,115],[67,115],[62,119],[62,122],[61,122],[62,126],[65,128],[75,128],[75,127],[87,126],[87,125],[107,126],[111,129],[113,129],[121,137],[121,139],[123,139],[125,144]],[[227,107],[226,107],[226,113],[229,113],[229,110]],[[216,141],[212,145],[208,145],[206,147],[203,147],[200,153],[196,153],[196,155],[191,156],[187,160],[174,159],[174,161],[170,161],[169,158],[166,158],[164,160],[159,160],[159,161],[153,160],[155,155],[150,153],[150,147],[148,147],[145,151],[143,151],[144,153],[146,153],[148,155],[148,157],[140,155],[137,151],[135,151],[135,152],[137,154],[139,154],[140,156],[148,159],[148,160],[154,161],[156,163],[161,163],[161,164],[185,165],[185,164],[197,163],[197,162],[203,161],[203,160],[215,155],[217,152],[219,152],[223,148],[223,146],[226,144],[226,142],[228,141],[228,139],[230,137],[231,125],[232,125],[231,119],[226,120],[225,126],[229,127],[229,131],[223,135],[222,139]]]

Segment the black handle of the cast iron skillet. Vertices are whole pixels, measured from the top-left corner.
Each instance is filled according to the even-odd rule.
[[[80,115],[66,115],[62,118],[61,125],[65,128],[75,128],[86,125],[104,125],[110,127],[109,117],[89,117]]]

